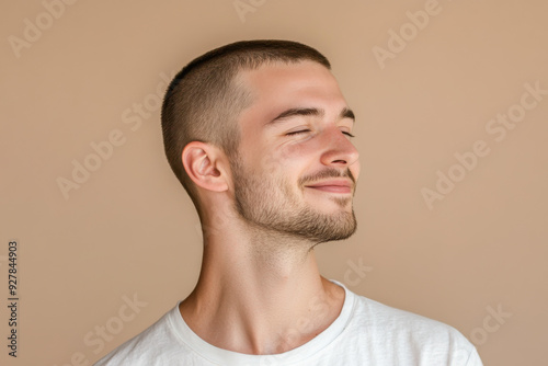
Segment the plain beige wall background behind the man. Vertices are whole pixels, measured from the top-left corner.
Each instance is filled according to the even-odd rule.
[[[219,45],[288,38],[330,58],[357,115],[358,232],[318,249],[323,274],[454,325],[486,365],[546,365],[548,95],[501,141],[486,126],[520,112],[525,83],[548,89],[548,3],[439,0],[381,68],[374,47],[390,50],[390,30],[413,32],[407,12],[426,1],[240,2],[253,11],[240,18],[233,0],[78,1],[53,18],[37,0],[2,1],[0,363],[90,365],[185,297],[198,220],[163,156],[156,90]],[[26,31],[34,41],[14,50],[37,22],[42,34]],[[116,130],[124,144],[66,198],[57,180]],[[478,140],[490,153],[429,209],[421,190]],[[16,359],[5,347],[10,239]],[[124,296],[147,305],[132,312]]]

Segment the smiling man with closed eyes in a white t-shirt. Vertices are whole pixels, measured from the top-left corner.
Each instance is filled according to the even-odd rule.
[[[353,124],[302,44],[238,42],[183,68],[162,129],[202,222],[199,279],[96,365],[481,365],[455,329],[320,275],[315,245],[356,230]]]

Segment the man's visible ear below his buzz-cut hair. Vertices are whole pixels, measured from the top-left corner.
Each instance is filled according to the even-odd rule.
[[[228,190],[228,160],[217,147],[201,142],[189,142],[182,153],[186,173],[197,186],[214,192]]]

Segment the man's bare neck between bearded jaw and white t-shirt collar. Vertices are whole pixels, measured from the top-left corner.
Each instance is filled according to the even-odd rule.
[[[205,236],[194,291],[180,310],[206,342],[246,354],[293,350],[339,316],[344,289],[320,276],[312,244],[246,230]]]

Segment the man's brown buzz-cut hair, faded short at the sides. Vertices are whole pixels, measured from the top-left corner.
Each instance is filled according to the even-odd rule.
[[[267,62],[304,60],[331,69],[322,54],[297,42],[242,41],[197,57],[173,78],[162,104],[163,145],[171,169],[198,213],[196,187],[181,159],[184,147],[191,141],[207,142],[233,159],[240,142],[238,116],[252,102],[249,91],[237,82],[238,73]]]

